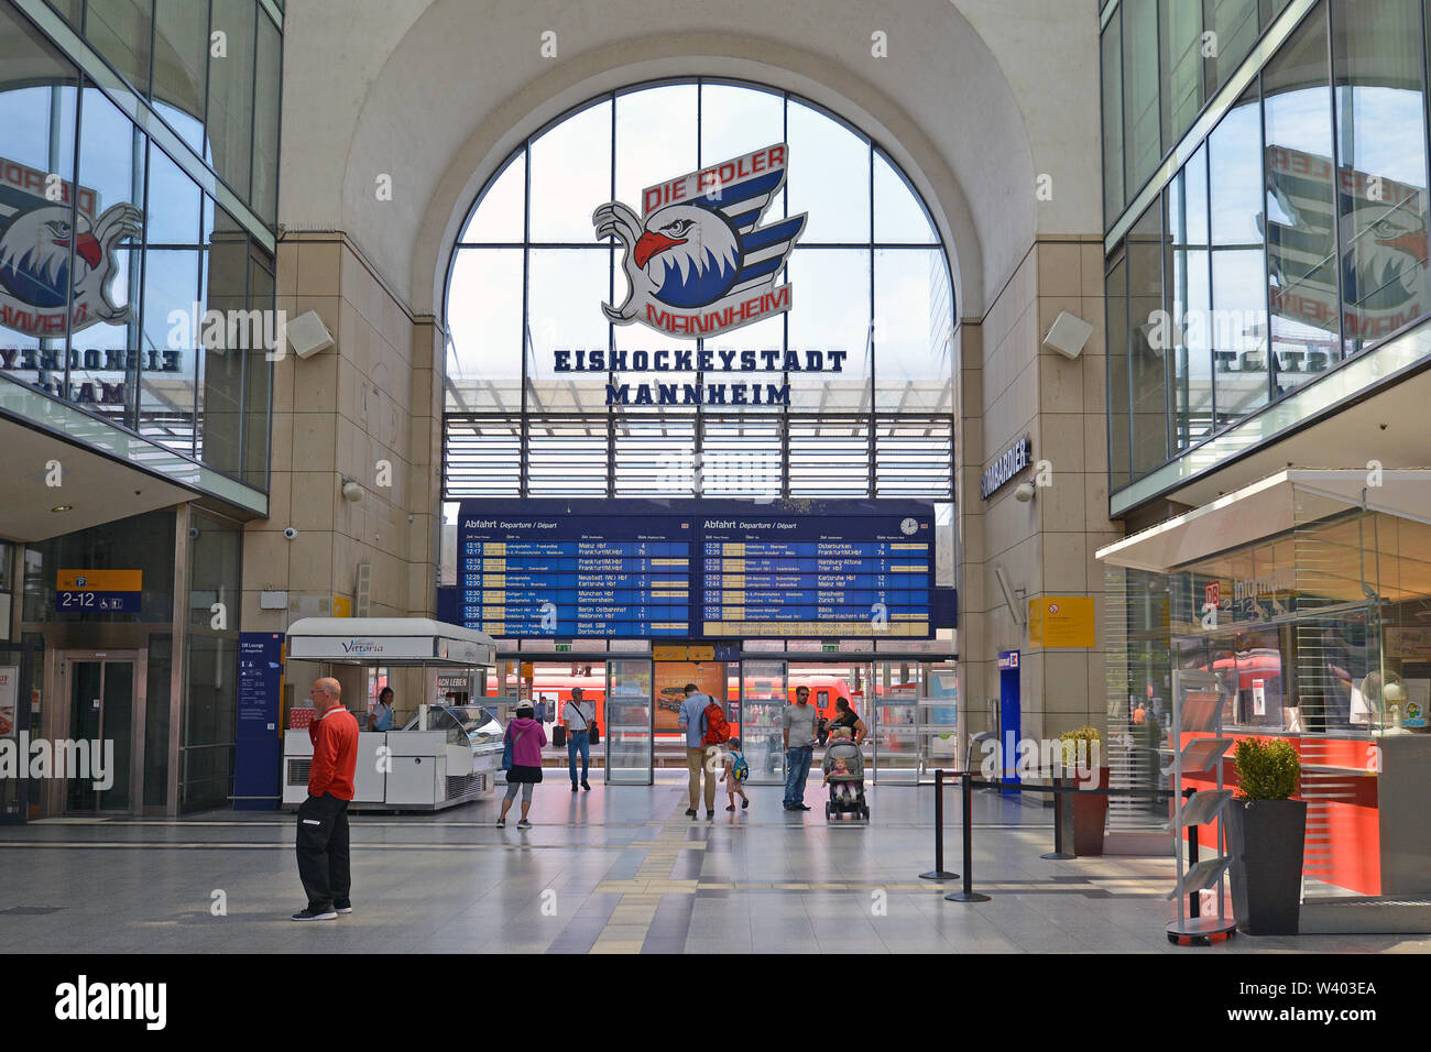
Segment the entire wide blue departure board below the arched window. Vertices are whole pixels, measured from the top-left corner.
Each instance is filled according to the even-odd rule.
[[[495,638],[932,638],[933,508],[464,501],[458,620]]]

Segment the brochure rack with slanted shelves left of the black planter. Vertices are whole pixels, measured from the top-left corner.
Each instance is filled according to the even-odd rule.
[[[1168,893],[1169,899],[1178,900],[1178,919],[1168,925],[1168,942],[1179,946],[1208,945],[1232,936],[1236,932],[1236,922],[1226,915],[1226,895],[1224,880],[1228,865],[1226,832],[1222,822],[1218,822],[1218,836],[1212,844],[1211,859],[1198,857],[1198,826],[1216,819],[1232,790],[1222,787],[1222,754],[1228,751],[1232,739],[1222,737],[1222,707],[1228,700],[1228,691],[1222,688],[1215,673],[1176,668],[1172,674],[1172,727],[1169,729],[1172,747],[1172,767],[1163,769],[1163,774],[1172,774],[1173,802],[1178,804],[1171,824],[1172,843],[1178,854],[1178,886]],[[1209,734],[1209,737],[1193,737],[1183,744],[1188,733]],[[1216,771],[1218,787],[1202,792],[1188,790],[1183,796],[1183,771]],[[1188,847],[1191,859],[1183,859],[1182,830],[1188,829]],[[1205,889],[1218,886],[1218,916],[1201,916],[1199,896]],[[1186,897],[1186,905],[1183,899]]]

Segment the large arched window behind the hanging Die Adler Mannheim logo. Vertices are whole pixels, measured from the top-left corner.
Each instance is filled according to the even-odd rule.
[[[786,179],[760,223],[806,215],[776,281],[790,309],[700,338],[608,321],[602,303],[627,295],[625,248],[597,236],[592,212],[622,202],[641,215],[645,187],[778,143]],[[953,494],[954,305],[939,233],[879,143],[790,93],[661,82],[552,122],[478,196],[445,318],[448,500]],[[594,349],[627,358],[617,372],[577,366]],[[703,371],[673,354],[655,372],[661,349],[778,351],[760,361],[780,366]],[[786,352],[819,368],[786,372]]]

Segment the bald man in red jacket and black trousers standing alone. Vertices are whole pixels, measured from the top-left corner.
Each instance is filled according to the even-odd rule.
[[[313,764],[308,799],[298,809],[298,876],[308,907],[293,920],[336,920],[352,913],[348,897],[352,872],[348,859],[348,803],[358,769],[358,720],[342,706],[338,680],[323,677],[308,691],[313,700]]]

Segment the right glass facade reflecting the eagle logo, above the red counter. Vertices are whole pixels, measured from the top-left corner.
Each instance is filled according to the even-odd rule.
[[[1122,0],[1105,20],[1105,127],[1123,136],[1105,170],[1122,230],[1106,269],[1115,494],[1431,313],[1431,4],[1304,0],[1278,47],[1248,59],[1259,67],[1239,69],[1288,6]],[[1129,72],[1149,56],[1156,76]],[[1234,77],[1245,90],[1181,142]],[[1135,86],[1161,100],[1159,149],[1151,117],[1118,102]],[[1186,162],[1149,195],[1175,147]],[[1135,198],[1149,202],[1136,216]]]

